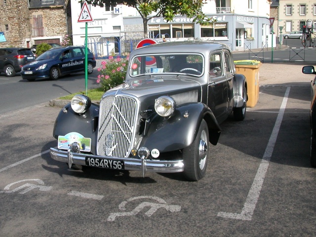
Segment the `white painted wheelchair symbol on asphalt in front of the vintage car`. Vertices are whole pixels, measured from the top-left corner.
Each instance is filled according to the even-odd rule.
[[[125,205],[128,202],[136,200],[136,199],[143,199],[143,198],[151,198],[151,199],[157,200],[159,203],[153,203],[153,202],[144,201],[144,202],[140,203],[138,206],[136,206],[134,208],[134,210],[132,210],[132,211],[111,213],[110,216],[108,217],[108,221],[115,221],[115,219],[118,216],[135,216],[137,213],[139,213],[145,207],[150,207],[150,209],[147,212],[145,212],[145,215],[147,215],[147,216],[153,215],[155,213],[155,211],[157,211],[159,208],[165,208],[167,211],[171,211],[171,212],[177,212],[177,211],[181,210],[181,206],[178,206],[178,205],[167,205],[165,200],[163,200],[160,197],[154,197],[154,196],[131,197],[131,198],[125,200],[125,201],[122,201],[118,205],[118,209],[121,210],[121,211],[124,211],[125,210]]]

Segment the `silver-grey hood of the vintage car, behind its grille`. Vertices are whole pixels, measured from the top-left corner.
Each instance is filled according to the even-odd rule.
[[[150,109],[155,104],[158,97],[162,95],[171,96],[176,104],[187,102],[198,102],[201,98],[201,83],[193,79],[151,78],[129,80],[109,91],[109,94],[130,94],[137,97],[141,102],[141,110]],[[190,98],[188,98],[190,97]]]

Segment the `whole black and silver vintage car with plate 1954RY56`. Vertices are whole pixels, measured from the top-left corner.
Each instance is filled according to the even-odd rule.
[[[246,114],[247,83],[236,74],[225,44],[163,42],[130,54],[125,83],[104,93],[100,105],[76,95],[58,115],[51,157],[118,170],[205,175],[209,143],[233,112]]]

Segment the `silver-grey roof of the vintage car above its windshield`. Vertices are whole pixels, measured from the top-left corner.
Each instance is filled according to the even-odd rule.
[[[203,41],[203,40],[192,40],[192,41],[172,41],[150,44],[145,47],[137,48],[133,52],[138,54],[142,53],[161,53],[161,52],[188,52],[188,53],[209,53],[216,49],[228,49],[230,48],[220,42],[214,41]]]

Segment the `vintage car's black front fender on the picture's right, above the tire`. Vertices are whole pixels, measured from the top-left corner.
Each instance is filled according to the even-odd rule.
[[[210,142],[216,145],[221,128],[212,111],[202,103],[189,103],[177,107],[169,118],[152,118],[140,147],[158,149],[160,153],[182,150],[196,139],[202,119],[207,122]]]

